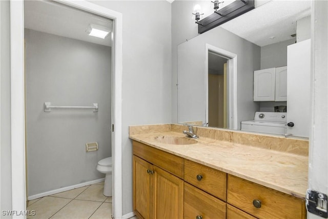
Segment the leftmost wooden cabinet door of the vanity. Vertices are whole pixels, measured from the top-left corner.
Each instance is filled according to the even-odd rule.
[[[153,165],[133,155],[133,210],[138,217],[153,218]]]

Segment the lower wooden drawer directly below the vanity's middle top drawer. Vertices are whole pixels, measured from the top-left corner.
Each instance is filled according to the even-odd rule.
[[[185,182],[183,198],[183,218],[202,219],[226,218],[226,203]]]

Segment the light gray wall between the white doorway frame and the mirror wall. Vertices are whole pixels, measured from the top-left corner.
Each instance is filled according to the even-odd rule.
[[[92,1],[123,15],[122,212],[132,212],[130,125],[171,123],[171,4]]]

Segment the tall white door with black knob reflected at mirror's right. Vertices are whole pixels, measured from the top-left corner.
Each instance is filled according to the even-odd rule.
[[[293,136],[310,134],[311,39],[287,48],[287,131]]]

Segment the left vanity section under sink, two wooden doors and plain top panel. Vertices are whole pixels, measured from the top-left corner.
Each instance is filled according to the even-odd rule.
[[[138,142],[133,142],[133,154],[133,210],[137,217],[182,218],[183,180],[168,170],[182,176],[183,158]]]

